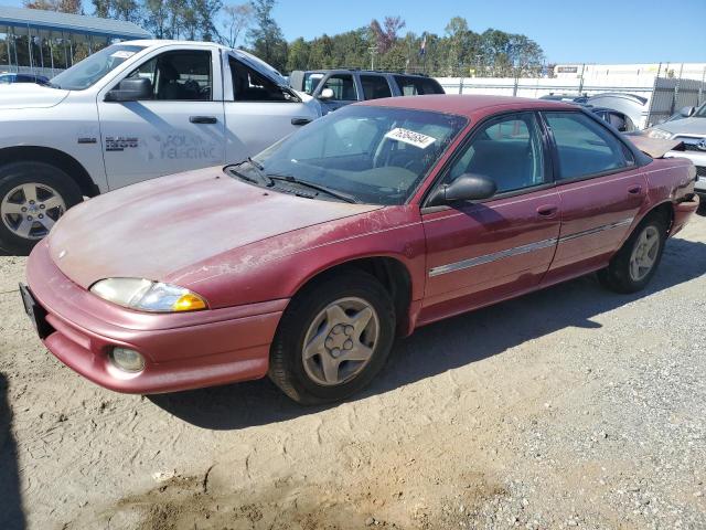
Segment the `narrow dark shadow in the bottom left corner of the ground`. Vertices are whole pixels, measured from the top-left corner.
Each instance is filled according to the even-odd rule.
[[[18,452],[12,436],[12,411],[8,400],[8,380],[3,373],[0,373],[0,528],[25,528]]]

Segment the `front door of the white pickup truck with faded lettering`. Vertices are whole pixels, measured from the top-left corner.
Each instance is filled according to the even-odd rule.
[[[126,77],[147,77],[150,99],[106,102]],[[225,160],[221,57],[213,47],[162,47],[98,94],[110,189]]]

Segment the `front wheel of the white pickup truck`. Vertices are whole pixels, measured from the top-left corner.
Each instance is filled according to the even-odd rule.
[[[54,166],[12,162],[0,167],[0,247],[28,253],[82,200],[78,186]]]

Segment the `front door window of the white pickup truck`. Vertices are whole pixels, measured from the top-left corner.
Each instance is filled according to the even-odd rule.
[[[142,63],[129,77],[145,77],[152,84],[152,99],[210,102],[213,91],[211,52],[167,52]]]

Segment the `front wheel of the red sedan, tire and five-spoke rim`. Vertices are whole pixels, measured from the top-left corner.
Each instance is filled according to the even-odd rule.
[[[381,370],[394,333],[395,309],[379,282],[338,272],[292,299],[270,349],[269,377],[298,403],[343,400]]]

